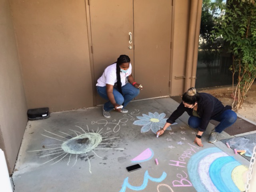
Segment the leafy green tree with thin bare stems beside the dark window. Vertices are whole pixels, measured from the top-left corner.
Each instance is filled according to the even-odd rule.
[[[246,93],[256,78],[256,6],[254,0],[229,0],[225,14],[219,17],[215,26],[232,54],[233,96],[232,107],[238,111]],[[215,33],[216,31],[214,31]],[[214,37],[215,38],[215,37]],[[214,39],[213,38],[213,39]],[[238,83],[234,90],[234,74]]]

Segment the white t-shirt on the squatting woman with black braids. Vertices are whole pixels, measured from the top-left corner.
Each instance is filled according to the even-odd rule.
[[[126,73],[120,71],[120,78],[122,86],[124,86],[126,83],[128,83],[128,77],[132,74],[132,64],[129,64],[128,71]],[[98,79],[96,86],[104,87],[106,84],[110,84],[115,86],[115,83],[117,82],[116,77],[116,63],[108,66],[105,70],[102,76]]]

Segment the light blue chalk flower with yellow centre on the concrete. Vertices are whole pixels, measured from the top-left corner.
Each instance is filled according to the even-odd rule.
[[[133,122],[134,125],[142,125],[141,131],[142,133],[148,132],[150,129],[152,132],[156,133],[158,130],[164,127],[167,118],[165,113],[158,114],[158,112],[148,112],[148,115],[142,114],[142,116],[137,116],[139,120]],[[170,126],[167,130],[172,130]]]

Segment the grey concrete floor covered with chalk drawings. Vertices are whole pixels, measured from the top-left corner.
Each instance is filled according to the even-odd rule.
[[[187,125],[187,114],[172,130],[156,138],[154,125],[158,120],[165,123],[162,118],[168,118],[177,106],[171,98],[158,98],[131,102],[127,114],[112,111],[111,118],[104,118],[102,107],[95,107],[55,112],[48,119],[28,121],[12,176],[14,191],[206,192],[225,187],[218,183],[229,185],[226,180],[233,178],[231,165],[248,167],[250,162],[234,155],[221,141],[208,143],[212,124],[203,134],[204,148],[193,143],[196,131]],[[158,116],[162,113],[166,116]],[[149,118],[148,123],[154,125],[144,126],[145,131],[147,127],[152,129],[142,133],[142,125],[133,123],[146,115],[155,122]],[[232,136],[225,132],[218,136],[218,140],[227,138]],[[217,157],[230,158],[221,166]],[[137,163],[140,170],[126,170]],[[229,170],[228,174],[222,175],[224,170]],[[245,174],[236,173],[238,179]]]

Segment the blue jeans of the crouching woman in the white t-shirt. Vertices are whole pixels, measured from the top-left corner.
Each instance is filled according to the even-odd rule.
[[[106,102],[104,104],[104,110],[106,110],[106,111],[113,110],[114,106],[108,99],[107,92],[106,92],[106,86],[104,86],[104,87],[96,86],[96,89],[97,89],[98,94],[102,98],[108,100],[108,102]],[[124,86],[122,86],[122,92],[123,92],[124,96],[122,96],[122,94],[120,94],[120,92],[116,88],[113,88],[113,94],[114,94],[116,103],[118,105],[122,105],[124,103],[124,107],[126,107],[127,104],[140,93],[140,89],[135,88],[130,83],[126,83]]]

